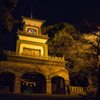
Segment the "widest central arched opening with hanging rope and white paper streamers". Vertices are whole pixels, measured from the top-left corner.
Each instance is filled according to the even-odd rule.
[[[46,78],[40,73],[26,73],[21,78],[22,93],[46,93]]]

